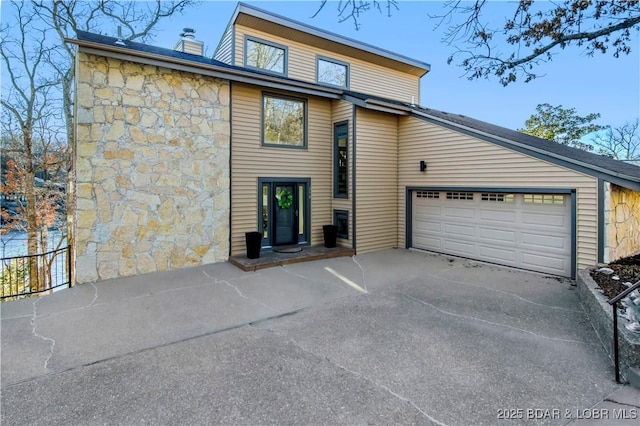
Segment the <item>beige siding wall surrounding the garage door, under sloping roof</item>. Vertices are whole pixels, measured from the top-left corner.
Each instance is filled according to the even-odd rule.
[[[596,263],[596,178],[415,117],[400,118],[399,139],[400,246],[405,246],[407,186],[576,188],[578,268]],[[420,160],[427,162],[425,173]]]

